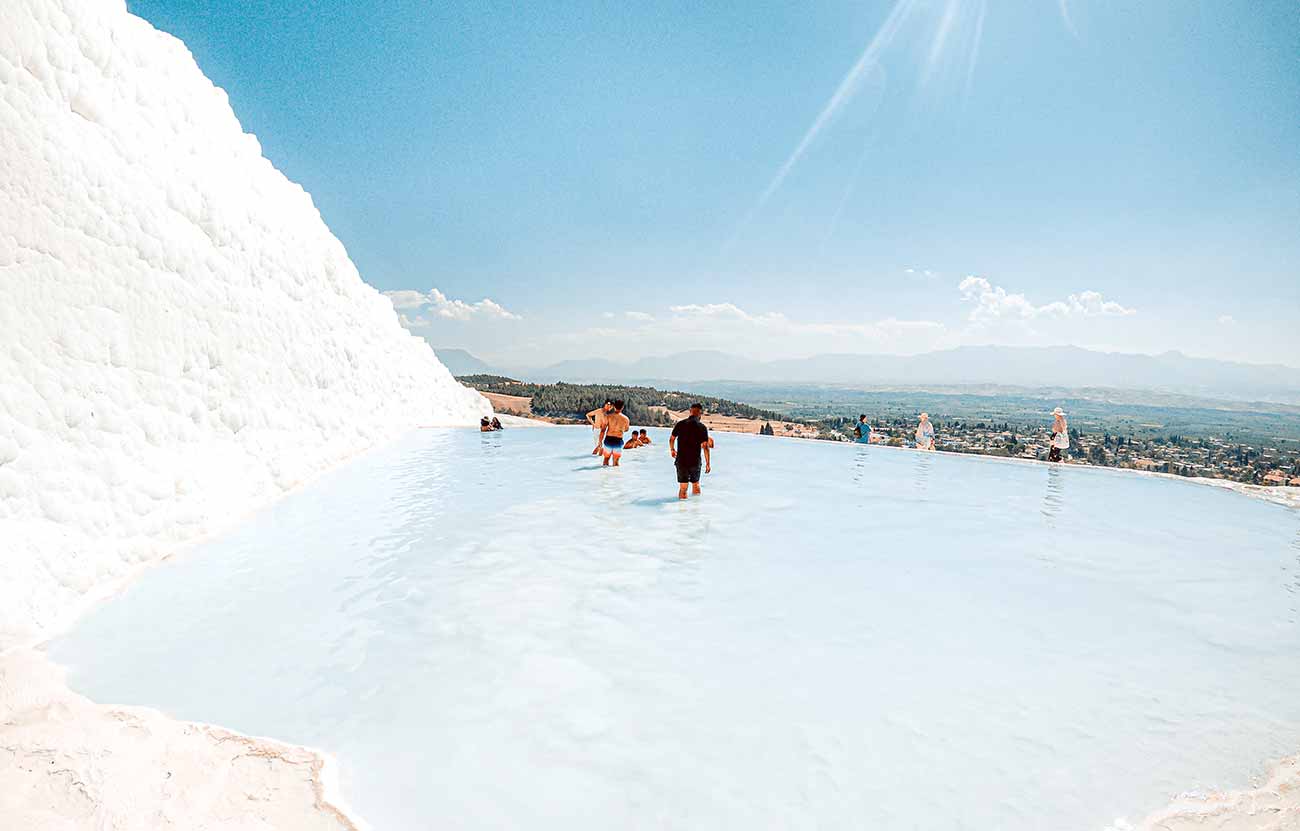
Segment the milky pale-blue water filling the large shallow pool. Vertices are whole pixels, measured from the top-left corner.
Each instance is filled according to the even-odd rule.
[[[376,828],[1053,831],[1300,752],[1300,514],[720,434],[421,430],[52,645],[96,701],[338,756]]]

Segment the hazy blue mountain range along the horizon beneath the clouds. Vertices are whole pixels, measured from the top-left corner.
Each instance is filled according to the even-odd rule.
[[[456,367],[494,372],[464,350]],[[469,359],[463,360],[464,359]],[[472,363],[471,363],[472,362]],[[451,363],[443,359],[443,363]],[[1114,388],[1167,390],[1209,398],[1300,403],[1300,369],[1280,364],[1244,364],[1182,352],[1135,355],[1097,352],[1076,346],[963,346],[923,355],[814,355],[772,362],[720,351],[690,351],[630,363],[604,359],[566,360],[545,368],[502,368],[498,375],[538,381],[655,382],[748,381],[863,385],[982,385]]]

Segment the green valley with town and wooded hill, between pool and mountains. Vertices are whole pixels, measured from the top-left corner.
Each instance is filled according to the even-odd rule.
[[[751,399],[740,403],[649,386],[529,384],[495,375],[460,380],[488,394],[500,412],[556,423],[580,423],[589,410],[615,397],[629,402],[634,424],[666,425],[688,402],[698,399],[708,412],[706,420],[718,430],[853,441],[857,416],[863,414],[872,427],[874,441],[906,447],[914,443],[915,414],[928,410],[936,450],[1040,460],[1048,458],[1049,450],[1050,407],[1023,395],[727,388],[731,395]],[[1139,406],[1072,399],[1071,403],[1079,417],[1071,417],[1067,464],[1300,486],[1300,429],[1294,429],[1300,424],[1300,412],[1257,414],[1186,402]]]

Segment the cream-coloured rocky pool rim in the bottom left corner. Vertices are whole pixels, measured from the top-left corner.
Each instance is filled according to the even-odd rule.
[[[12,827],[134,827],[147,810],[182,826],[369,831],[328,753],[92,702],[34,649],[0,657],[0,745],[9,750],[0,782],[13,795],[0,821]],[[142,775],[160,769],[165,778]]]

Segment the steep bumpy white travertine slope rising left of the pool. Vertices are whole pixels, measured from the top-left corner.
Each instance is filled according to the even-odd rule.
[[[417,424],[459,384],[185,44],[0,8],[0,650]]]

